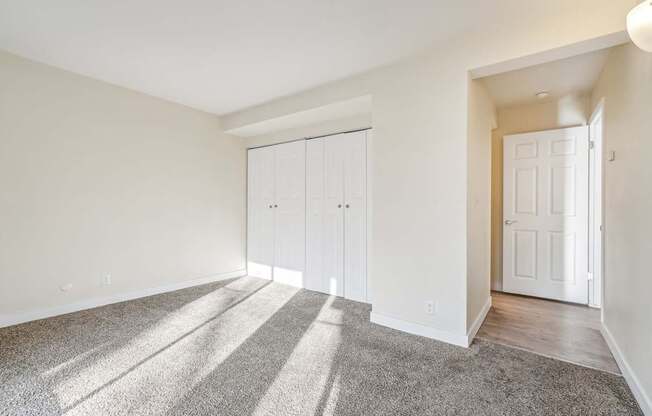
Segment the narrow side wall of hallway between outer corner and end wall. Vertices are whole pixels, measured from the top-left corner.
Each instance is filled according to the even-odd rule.
[[[491,275],[491,131],[496,108],[484,85],[469,85],[466,325],[487,311]]]

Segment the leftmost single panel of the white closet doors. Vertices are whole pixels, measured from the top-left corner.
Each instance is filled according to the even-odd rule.
[[[247,270],[249,275],[272,278],[274,265],[274,149],[248,152]]]

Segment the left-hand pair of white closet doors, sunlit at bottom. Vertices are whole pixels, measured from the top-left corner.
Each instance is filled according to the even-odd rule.
[[[247,271],[303,287],[305,142],[250,149]]]

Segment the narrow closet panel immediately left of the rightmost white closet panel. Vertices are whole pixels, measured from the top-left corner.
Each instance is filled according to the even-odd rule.
[[[326,293],[336,296],[344,296],[343,136],[324,140],[323,287]]]

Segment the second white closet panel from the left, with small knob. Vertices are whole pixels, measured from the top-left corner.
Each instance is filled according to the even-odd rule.
[[[306,142],[272,147],[275,169],[274,280],[304,286],[306,250]]]

